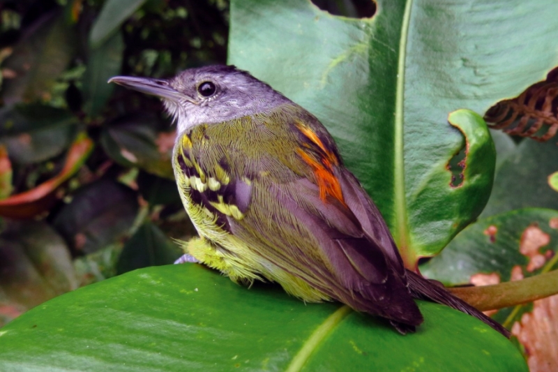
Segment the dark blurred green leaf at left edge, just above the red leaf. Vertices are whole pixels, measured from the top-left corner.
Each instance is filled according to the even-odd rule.
[[[14,163],[31,164],[61,154],[75,137],[77,119],[47,105],[14,105],[0,110],[0,142]]]

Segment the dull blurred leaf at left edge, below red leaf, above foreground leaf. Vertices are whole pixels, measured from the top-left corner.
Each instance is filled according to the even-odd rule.
[[[0,325],[15,318],[3,306],[24,311],[75,288],[72,258],[62,237],[44,222],[9,221],[0,235]]]

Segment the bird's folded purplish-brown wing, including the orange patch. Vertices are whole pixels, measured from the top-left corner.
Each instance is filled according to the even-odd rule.
[[[422,317],[379,211],[342,166],[329,134],[294,126],[296,156],[282,159],[290,177],[253,177],[243,218],[229,216],[232,232],[331,297],[417,325]]]

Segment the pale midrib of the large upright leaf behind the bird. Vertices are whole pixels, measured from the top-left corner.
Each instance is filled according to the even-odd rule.
[[[407,51],[407,35],[409,33],[409,21],[411,19],[411,6],[413,1],[407,0],[405,13],[401,24],[401,38],[399,40],[399,61],[397,85],[395,92],[395,231],[393,239],[397,244],[406,267],[414,266],[412,257],[409,257],[409,229],[407,222],[407,202],[405,200],[405,153],[403,141],[403,115],[405,104],[405,56]],[[409,266],[410,265],[410,266]]]

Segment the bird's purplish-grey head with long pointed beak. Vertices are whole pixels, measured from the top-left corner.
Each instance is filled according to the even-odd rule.
[[[234,66],[190,68],[168,80],[115,76],[109,82],[162,98],[179,133],[199,124],[266,112],[290,102],[268,84]]]

